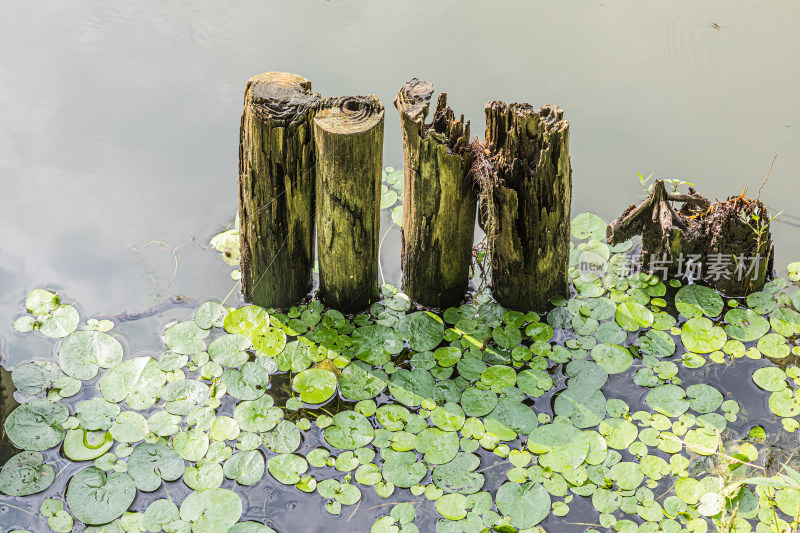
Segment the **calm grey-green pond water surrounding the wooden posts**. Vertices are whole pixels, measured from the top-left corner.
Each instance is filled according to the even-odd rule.
[[[694,182],[711,198],[745,187],[754,197],[777,154],[761,199],[783,210],[772,226],[783,269],[800,252],[798,52],[800,6],[789,1],[5,2],[0,361],[13,368],[54,353],[52,342],[11,327],[32,287],[57,289],[82,317],[182,297],[119,326],[126,355],[159,353],[164,325],[234,289],[208,243],[236,210],[245,82],[267,70],[304,75],[324,95],[378,95],[384,162],[398,167],[391,101],[411,77],[448,92],[481,136],[487,100],[557,103],[571,123],[573,213],[605,220],[639,199],[637,172]],[[382,222],[383,274],[398,284],[399,234],[388,213]],[[731,375],[746,381],[754,405],[749,422],[732,424],[741,434],[769,413],[753,369],[686,383],[726,390]],[[316,445],[313,431],[307,438]],[[386,500],[362,492],[355,518],[345,507],[332,520],[318,495],[265,478],[248,489],[246,516],[263,521],[266,506],[280,532],[365,531]],[[433,505],[417,515],[432,531]],[[573,517],[545,525],[583,531],[567,524]]]

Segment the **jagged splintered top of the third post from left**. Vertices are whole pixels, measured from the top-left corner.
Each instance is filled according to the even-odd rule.
[[[412,78],[398,91],[394,106],[404,120],[417,125],[420,137],[432,136],[441,144],[446,144],[453,153],[459,154],[469,143],[469,121],[464,120],[464,115],[456,120],[455,113],[447,105],[447,93],[440,93],[433,121],[425,124],[432,96],[432,83]]]

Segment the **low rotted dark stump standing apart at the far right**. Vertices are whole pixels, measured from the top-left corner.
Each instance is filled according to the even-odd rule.
[[[675,203],[683,203],[680,209]],[[656,180],[606,230],[609,244],[642,236],[640,264],[648,272],[705,281],[728,296],[760,291],[772,272],[769,213],[742,193],[711,203],[690,188],[669,192]],[[687,276],[688,275],[688,276]]]

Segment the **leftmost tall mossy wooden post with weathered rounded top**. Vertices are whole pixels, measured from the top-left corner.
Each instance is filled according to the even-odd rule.
[[[318,99],[296,74],[267,72],[247,82],[239,144],[242,293],[262,307],[286,308],[311,291]]]

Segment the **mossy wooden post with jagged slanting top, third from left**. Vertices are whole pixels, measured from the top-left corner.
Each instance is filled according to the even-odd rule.
[[[403,131],[403,290],[415,302],[445,308],[469,283],[477,195],[468,172],[469,122],[456,120],[441,93],[425,124],[433,85],[416,78],[397,93]]]

